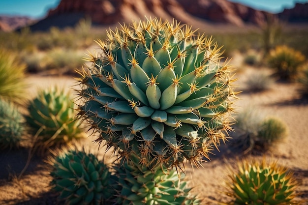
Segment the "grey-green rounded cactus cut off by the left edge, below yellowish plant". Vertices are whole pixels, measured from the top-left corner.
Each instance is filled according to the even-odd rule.
[[[17,107],[0,100],[0,149],[18,147],[24,131],[24,119]]]

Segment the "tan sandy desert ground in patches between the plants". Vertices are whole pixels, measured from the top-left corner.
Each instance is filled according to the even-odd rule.
[[[245,89],[245,76],[258,72],[257,69],[247,68],[237,75],[239,88]],[[51,85],[59,85],[70,89],[75,80],[71,77],[44,77],[31,75],[27,78],[31,83],[29,96],[34,97],[37,90]],[[298,199],[308,199],[308,103],[300,99],[296,84],[276,83],[272,89],[262,93],[243,92],[239,95],[241,100],[236,102],[238,112],[248,106],[265,116],[276,116],[284,120],[289,128],[289,136],[284,142],[275,148],[265,152],[268,158],[278,161],[278,164],[294,170],[295,176],[301,185],[297,193],[301,193]],[[97,152],[97,145],[92,144],[93,137],[82,142],[87,149]],[[227,144],[228,145],[228,144]],[[235,157],[229,157],[230,153],[217,152],[210,162],[205,162],[203,168],[192,170],[186,166],[187,179],[194,188],[192,193],[198,194],[203,199],[203,204],[215,205],[216,201],[227,201],[221,194],[224,180],[228,175],[226,167],[234,163]],[[99,150],[99,158],[104,155]],[[26,173],[17,179],[19,172],[25,165],[28,150],[2,151],[0,152],[0,205],[53,205],[55,194],[50,191],[48,166],[43,159],[34,157]],[[105,157],[108,158],[108,155]],[[243,157],[241,154],[237,157]],[[254,156],[255,157],[255,156]],[[109,159],[111,161],[111,159]],[[14,175],[15,173],[15,175]]]

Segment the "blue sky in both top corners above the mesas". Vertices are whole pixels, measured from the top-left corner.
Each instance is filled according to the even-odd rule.
[[[283,8],[291,8],[295,2],[308,0],[230,0],[252,8],[277,13]],[[60,0],[0,0],[0,15],[22,15],[43,18],[49,9],[57,7]]]

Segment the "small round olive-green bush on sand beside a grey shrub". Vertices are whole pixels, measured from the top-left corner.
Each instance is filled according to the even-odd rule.
[[[287,128],[286,123],[280,118],[267,117],[261,121],[256,141],[263,146],[281,141],[288,134]]]

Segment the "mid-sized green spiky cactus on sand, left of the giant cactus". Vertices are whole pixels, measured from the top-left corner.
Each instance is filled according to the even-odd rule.
[[[79,128],[81,121],[75,119],[74,103],[63,89],[41,90],[28,110],[27,123],[32,134],[38,136],[37,145],[54,146],[85,136]]]

